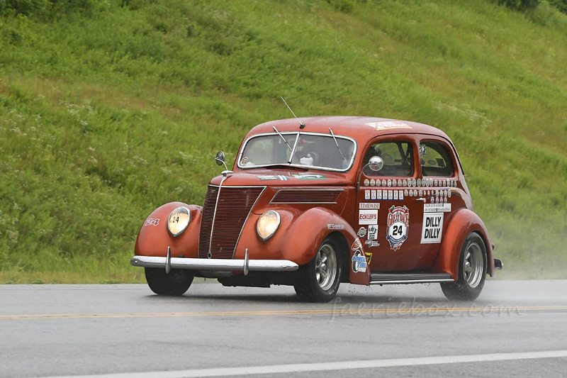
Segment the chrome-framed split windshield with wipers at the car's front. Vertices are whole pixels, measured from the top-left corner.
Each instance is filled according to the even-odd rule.
[[[340,135],[333,138],[330,133],[262,134],[247,140],[238,167],[246,169],[266,165],[295,165],[346,171],[354,162],[356,150],[356,143],[351,138]]]

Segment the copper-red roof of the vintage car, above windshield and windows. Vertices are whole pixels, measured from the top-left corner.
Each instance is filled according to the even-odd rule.
[[[364,116],[318,116],[299,118],[305,128],[302,133],[329,133],[329,128],[335,135],[345,135],[356,139],[359,143],[378,135],[387,134],[429,134],[450,140],[447,134],[433,126],[412,121],[402,121],[393,118],[377,118]],[[259,133],[273,133],[275,127],[280,133],[298,131],[299,122],[296,118],[281,119],[261,123],[249,131],[246,139]]]

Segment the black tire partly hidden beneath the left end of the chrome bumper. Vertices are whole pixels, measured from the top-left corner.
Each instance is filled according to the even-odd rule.
[[[184,269],[172,269],[169,274],[163,268],[144,268],[147,286],[157,295],[180,296],[193,282],[193,273]]]

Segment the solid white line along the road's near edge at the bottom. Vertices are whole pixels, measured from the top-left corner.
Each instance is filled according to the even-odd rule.
[[[177,372],[142,372],[122,374],[77,375],[72,377],[47,378],[191,378],[224,377],[228,375],[276,374],[293,372],[321,372],[325,370],[368,369],[371,367],[394,367],[415,365],[454,364],[458,362],[488,362],[506,360],[530,360],[536,358],[567,357],[567,350],[546,352],[495,353],[491,355],[464,355],[442,357],[398,358],[393,360],[344,361],[315,364],[271,365],[251,367],[220,367],[217,369],[193,369]]]

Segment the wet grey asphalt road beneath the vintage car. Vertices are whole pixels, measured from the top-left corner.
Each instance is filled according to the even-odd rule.
[[[158,373],[159,372],[159,373]],[[567,281],[488,281],[474,302],[437,284],[0,286],[0,377],[567,377]]]

